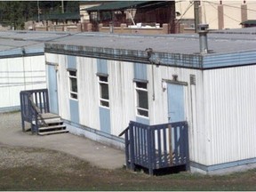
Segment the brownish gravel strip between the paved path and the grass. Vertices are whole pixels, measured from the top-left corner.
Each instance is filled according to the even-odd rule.
[[[81,160],[76,157],[44,148],[0,146],[0,170],[33,166],[36,168],[47,167],[51,172],[74,173],[72,167],[80,163]],[[77,170],[76,173],[78,173]]]

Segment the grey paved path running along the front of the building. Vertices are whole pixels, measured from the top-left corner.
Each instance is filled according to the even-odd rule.
[[[0,113],[1,144],[58,150],[105,169],[121,168],[125,163],[124,151],[71,133],[37,136],[22,132],[20,112]]]

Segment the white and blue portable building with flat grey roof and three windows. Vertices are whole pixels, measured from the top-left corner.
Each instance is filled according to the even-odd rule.
[[[201,32],[86,33],[45,44],[52,111],[69,132],[119,148],[131,120],[185,120],[192,172],[255,167],[255,28]]]

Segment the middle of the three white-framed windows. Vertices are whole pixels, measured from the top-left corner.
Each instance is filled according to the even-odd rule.
[[[110,107],[110,103],[109,103],[109,82],[108,82],[108,75],[101,75],[101,74],[97,74],[98,76],[98,83],[99,83],[99,105],[102,108],[109,108]],[[101,78],[101,79],[100,79]],[[102,80],[102,78],[106,78],[107,81]],[[103,92],[102,92],[102,84],[107,85],[108,88],[108,99],[103,98]],[[105,92],[106,93],[106,92]],[[105,103],[105,104],[104,104]],[[107,105],[106,105],[107,103]]]

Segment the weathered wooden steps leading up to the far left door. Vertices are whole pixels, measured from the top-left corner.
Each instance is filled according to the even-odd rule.
[[[68,132],[60,116],[52,113],[44,113],[38,116],[38,125],[38,135]]]

